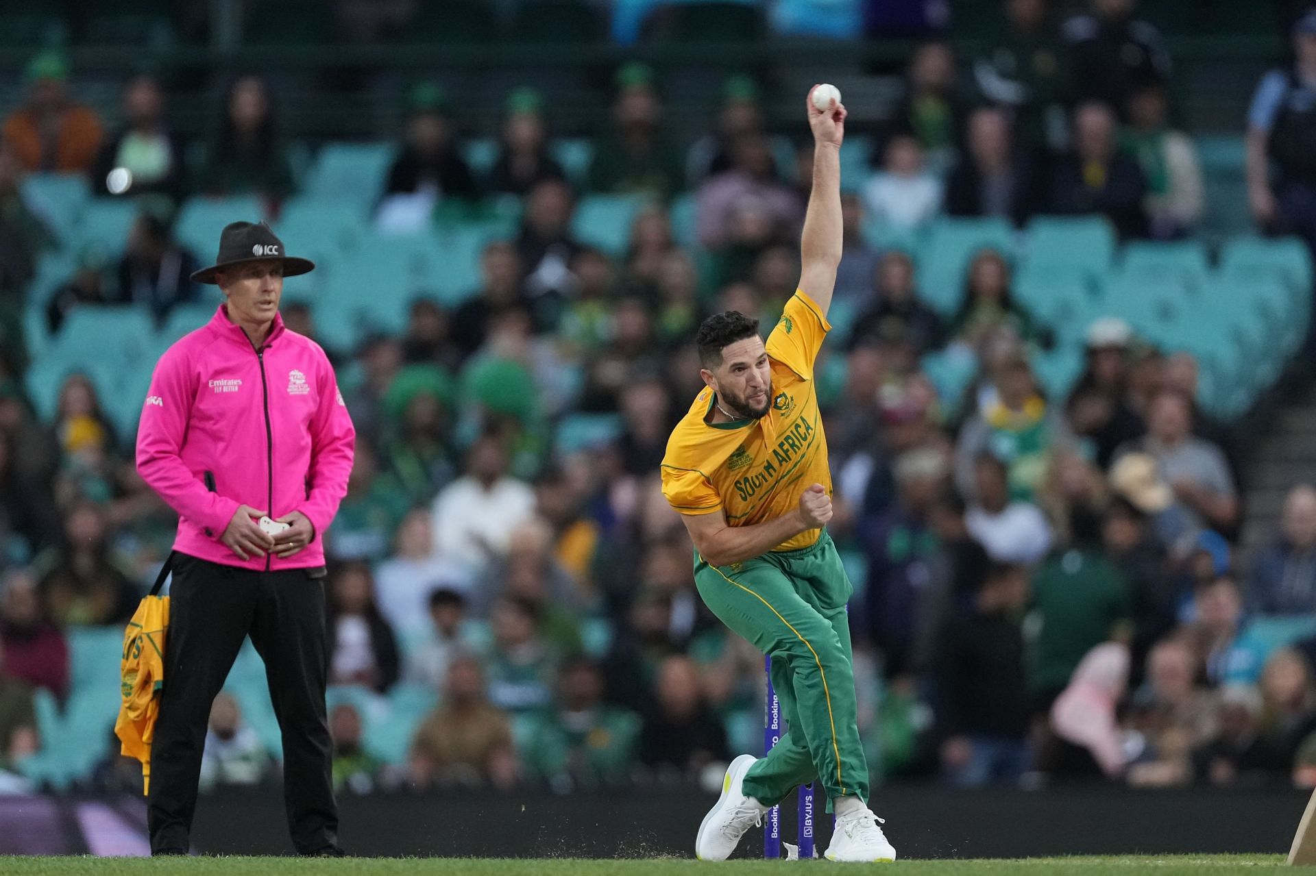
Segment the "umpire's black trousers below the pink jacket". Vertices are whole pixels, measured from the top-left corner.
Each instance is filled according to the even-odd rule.
[[[188,850],[211,702],[247,634],[265,660],[283,735],[292,844],[309,854],[338,843],[325,718],[324,568],[255,572],[175,552],[147,798],[154,854]]]

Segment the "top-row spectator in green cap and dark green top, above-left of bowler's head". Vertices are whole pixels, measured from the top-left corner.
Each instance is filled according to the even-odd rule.
[[[612,129],[594,146],[591,192],[650,195],[667,200],[684,188],[680,151],[662,122],[662,101],[647,64],[633,62],[616,78]]]

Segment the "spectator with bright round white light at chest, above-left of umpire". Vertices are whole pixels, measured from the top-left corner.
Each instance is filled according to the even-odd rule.
[[[150,74],[124,84],[124,126],[105,141],[91,171],[97,195],[184,196],[183,146],[164,122],[164,89]],[[200,266],[197,266],[200,267]]]

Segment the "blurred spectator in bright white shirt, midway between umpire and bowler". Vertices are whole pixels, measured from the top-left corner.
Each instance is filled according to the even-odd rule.
[[[534,491],[507,472],[501,438],[484,434],[466,454],[466,475],[434,500],[434,546],[470,568],[507,552],[512,529],[534,513]]]

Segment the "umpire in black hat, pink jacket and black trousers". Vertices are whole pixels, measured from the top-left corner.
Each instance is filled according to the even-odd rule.
[[[324,350],[284,328],[290,258],[263,222],[233,222],[192,275],[224,304],[151,377],[137,470],[178,512],[164,688],[151,750],[151,854],[182,855],[211,701],[242,646],[265,660],[283,734],[283,794],[297,852],[340,856],[325,721],[324,531],[347,489],[355,431]],[[288,529],[271,537],[258,520]]]

